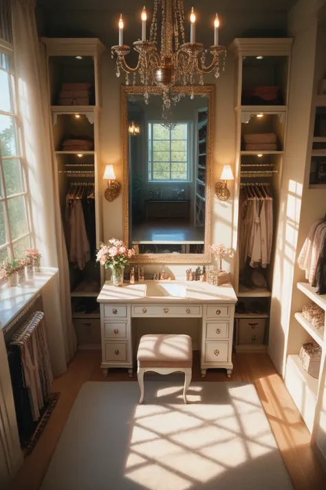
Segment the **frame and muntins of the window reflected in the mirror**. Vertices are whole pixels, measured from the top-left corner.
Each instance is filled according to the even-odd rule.
[[[193,181],[193,155],[191,154],[191,139],[193,136],[193,121],[177,121],[178,124],[186,124],[187,125],[187,139],[186,139],[186,153],[187,153],[187,159],[186,159],[186,167],[187,167],[187,178],[169,178],[169,179],[154,179],[153,178],[153,137],[151,137],[151,134],[153,134],[153,125],[162,125],[162,121],[147,121],[146,125],[146,132],[147,132],[147,145],[146,145],[146,152],[147,152],[147,158],[146,158],[146,181],[149,184],[169,184],[169,183],[192,183]],[[150,130],[151,127],[151,130]],[[160,141],[160,140],[157,140]],[[171,139],[171,132],[170,132],[170,140],[161,140],[161,141],[170,141],[170,152],[171,152],[171,143],[172,141],[184,141],[184,140],[173,140]],[[170,175],[171,175],[171,160],[170,160]]]

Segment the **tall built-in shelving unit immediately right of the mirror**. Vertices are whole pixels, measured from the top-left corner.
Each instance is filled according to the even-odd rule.
[[[287,104],[289,100],[290,63],[292,39],[235,39],[230,46],[235,58],[237,83],[235,91],[235,113],[237,117],[237,153],[235,165],[235,198],[240,202],[241,187],[250,183],[266,183],[270,185],[273,197],[274,233],[279,214],[279,196],[281,193],[281,174],[286,143]],[[259,134],[257,141],[251,143],[252,134]],[[268,136],[266,141],[265,135]],[[250,135],[250,136],[249,136]],[[233,238],[233,247],[239,250],[241,223],[241,205],[235,205],[234,221],[238,223]],[[273,245],[274,247],[274,245]],[[243,260],[243,263],[241,261]],[[270,298],[272,296],[272,277],[274,269],[274,251],[267,269],[261,269],[267,287],[256,287],[250,281],[241,283],[248,278],[250,268],[239,255],[235,258],[235,290],[239,301],[249,305],[252,301],[264,305],[263,314],[237,314],[236,338],[241,339],[242,329],[253,329],[252,343],[238,345],[237,351],[265,351],[268,343],[268,327],[270,317]],[[250,285],[250,287],[248,287]],[[254,334],[254,322],[261,320],[257,329],[265,325],[265,335]],[[251,324],[251,325],[250,325]],[[244,336],[246,338],[246,336]],[[257,342],[257,338],[261,341]]]

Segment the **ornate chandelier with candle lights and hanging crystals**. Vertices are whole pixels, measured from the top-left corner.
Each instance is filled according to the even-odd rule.
[[[111,56],[116,57],[116,75],[121,71],[126,74],[126,85],[129,75],[133,74],[133,85],[139,74],[140,82],[145,85],[157,85],[162,88],[164,108],[171,107],[171,101],[180,100],[180,92],[174,93],[174,85],[190,86],[189,94],[193,98],[191,85],[204,85],[204,74],[215,72],[219,76],[220,66],[224,70],[226,48],[219,45],[219,18],[214,21],[214,44],[204,49],[202,43],[195,40],[195,12],[191,10],[191,36],[186,42],[184,32],[184,5],[182,0],[154,0],[153,20],[146,39],[146,10],[142,10],[142,39],[133,43],[133,50],[138,54],[138,63],[131,68],[125,59],[131,51],[123,43],[123,19],[119,21],[119,44],[112,46]],[[160,43],[158,39],[160,38]],[[211,58],[206,65],[206,55]],[[222,61],[221,61],[222,60]],[[171,93],[172,92],[172,93]],[[149,101],[149,93],[144,92],[145,102]]]

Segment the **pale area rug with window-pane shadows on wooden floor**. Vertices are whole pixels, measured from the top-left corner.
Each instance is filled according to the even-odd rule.
[[[251,383],[83,385],[41,490],[293,490]]]

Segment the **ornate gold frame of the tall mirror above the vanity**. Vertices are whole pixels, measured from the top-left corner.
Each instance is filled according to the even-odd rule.
[[[162,94],[157,86],[145,88],[140,85],[121,85],[121,120],[122,120],[122,201],[123,201],[123,240],[129,244],[129,134],[128,134],[128,96],[130,94]],[[205,238],[204,254],[136,254],[131,263],[149,264],[210,264],[210,229],[212,219],[212,170],[213,170],[213,132],[215,113],[215,86],[214,85],[177,85],[173,92],[181,92],[190,96],[206,95],[208,97],[208,135],[206,147],[206,207],[205,207]]]

